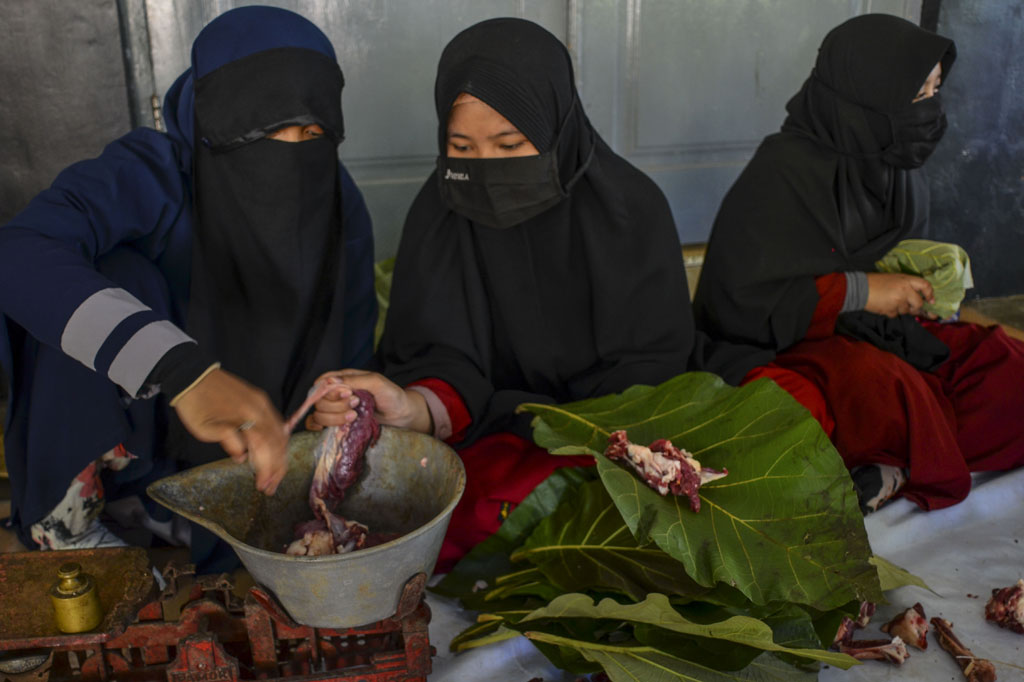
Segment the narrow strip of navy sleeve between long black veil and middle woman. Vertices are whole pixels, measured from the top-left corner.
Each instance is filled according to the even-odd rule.
[[[342,367],[365,368],[374,352],[377,292],[374,288],[374,229],[362,194],[339,164],[345,235],[345,338]],[[341,369],[341,368],[338,368]]]

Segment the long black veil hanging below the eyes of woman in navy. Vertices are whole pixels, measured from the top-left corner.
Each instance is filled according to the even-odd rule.
[[[337,267],[340,250],[335,155],[328,138],[197,154],[198,300],[188,328],[282,411],[311,383],[306,340],[322,331],[314,312],[329,309],[334,289],[327,269]]]

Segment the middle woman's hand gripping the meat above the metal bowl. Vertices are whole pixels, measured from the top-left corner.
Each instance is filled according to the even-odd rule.
[[[355,419],[355,406],[359,398],[352,392],[362,389],[373,393],[377,402],[375,418],[381,424],[431,432],[430,411],[426,399],[418,392],[398,386],[384,375],[362,370],[328,372],[316,381],[334,379],[341,383],[316,401],[314,411],[306,418],[306,428],[318,431],[325,426],[343,426]]]

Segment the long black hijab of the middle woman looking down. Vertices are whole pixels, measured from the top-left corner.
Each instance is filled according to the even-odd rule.
[[[668,202],[591,127],[562,44],[514,18],[456,36],[434,89],[441,157],[461,92],[509,119],[542,155],[555,152],[565,198],[514,226],[488,227],[451,210],[432,174],[398,247],[385,373],[453,385],[473,419],[470,442],[522,433],[528,420],[513,415],[521,402],[601,395],[686,370],[694,329]]]

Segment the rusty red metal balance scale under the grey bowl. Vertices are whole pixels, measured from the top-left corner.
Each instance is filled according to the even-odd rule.
[[[53,622],[46,594],[67,561],[98,586],[104,619],[92,632],[60,634]],[[158,590],[137,548],[0,555],[0,682],[425,682],[430,673],[423,573],[393,616],[347,630],[295,623],[259,586],[242,599],[226,573],[193,573],[171,562]]]

